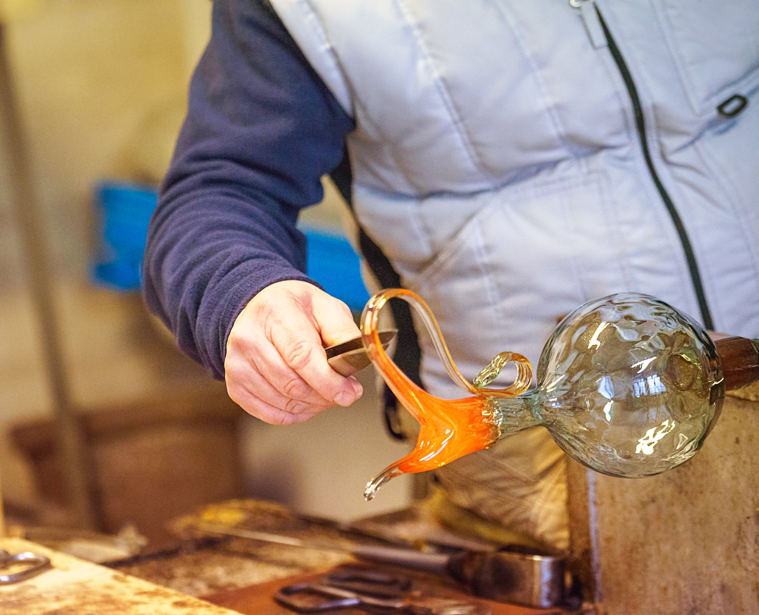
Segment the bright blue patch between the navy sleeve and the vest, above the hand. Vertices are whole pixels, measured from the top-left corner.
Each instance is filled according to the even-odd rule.
[[[306,235],[307,276],[319,282],[333,297],[360,312],[369,301],[361,279],[361,259],[345,235],[321,229],[301,229]]]

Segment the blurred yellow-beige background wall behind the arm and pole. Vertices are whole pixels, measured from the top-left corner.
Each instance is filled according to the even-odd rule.
[[[209,0],[0,2],[52,257],[65,373],[80,412],[150,405],[197,386],[224,395],[176,351],[139,295],[87,281],[93,185],[103,178],[158,184],[209,36],[210,8]],[[49,417],[51,400],[6,162],[0,158],[0,474],[5,500],[34,509],[39,488],[6,434],[18,421]],[[310,224],[337,224],[341,205],[334,191],[328,194],[307,213]],[[363,381],[360,403],[296,427],[271,427],[240,412],[246,493],[341,519],[404,505],[403,481],[375,503],[361,498],[364,482],[408,448],[383,434],[373,375]]]

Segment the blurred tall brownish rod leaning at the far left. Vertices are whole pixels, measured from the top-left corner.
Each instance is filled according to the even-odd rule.
[[[43,241],[39,205],[32,185],[32,173],[20,113],[14,99],[13,79],[8,61],[5,27],[0,24],[0,123],[7,135],[6,155],[10,168],[11,198],[20,226],[29,272],[30,292],[41,333],[45,367],[52,396],[58,451],[68,506],[78,525],[96,528],[90,490],[90,475],[83,456],[83,436],[65,377],[63,353],[58,336],[58,318],[52,298],[49,257]]]

